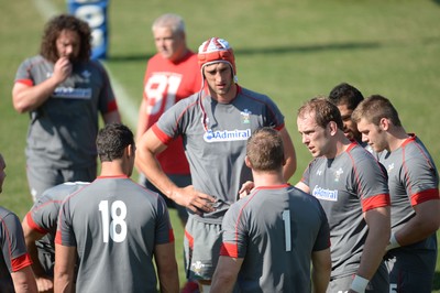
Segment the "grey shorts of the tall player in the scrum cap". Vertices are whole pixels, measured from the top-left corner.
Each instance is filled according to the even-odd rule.
[[[221,240],[221,224],[207,224],[189,216],[184,238],[188,279],[212,280],[219,261]]]

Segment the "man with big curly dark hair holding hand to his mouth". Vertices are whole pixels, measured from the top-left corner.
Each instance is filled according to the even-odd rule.
[[[109,77],[90,61],[88,24],[73,15],[53,18],[40,54],[19,67],[12,102],[30,113],[26,171],[33,199],[67,181],[97,175],[98,112],[105,123],[120,122]]]

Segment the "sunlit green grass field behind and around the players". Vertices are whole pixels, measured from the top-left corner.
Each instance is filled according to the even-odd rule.
[[[37,53],[54,11],[66,11],[65,0],[0,0],[0,152],[8,164],[0,204],[20,217],[31,206],[23,151],[28,116],[13,110],[11,88],[19,64]],[[151,23],[165,12],[184,17],[194,50],[210,36],[227,39],[235,50],[240,84],[278,104],[297,150],[292,183],[311,159],[297,134],[296,110],[341,82],[364,96],[392,99],[406,130],[417,133],[440,164],[440,1],[111,1],[106,65],[119,98],[134,108],[145,62],[155,52]],[[130,110],[123,120],[134,129]],[[182,229],[172,216],[179,243]],[[178,246],[176,252],[182,259]],[[438,261],[433,292],[440,292],[439,272]]]

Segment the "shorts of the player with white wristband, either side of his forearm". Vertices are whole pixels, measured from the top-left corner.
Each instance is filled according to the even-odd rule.
[[[354,274],[331,279],[327,293],[348,292],[353,282]],[[370,293],[389,293],[388,272],[384,263],[381,263],[376,273],[366,285],[365,292]]]

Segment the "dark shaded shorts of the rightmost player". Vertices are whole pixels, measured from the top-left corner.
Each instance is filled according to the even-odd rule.
[[[389,292],[430,293],[436,261],[436,250],[393,249],[385,256]]]

